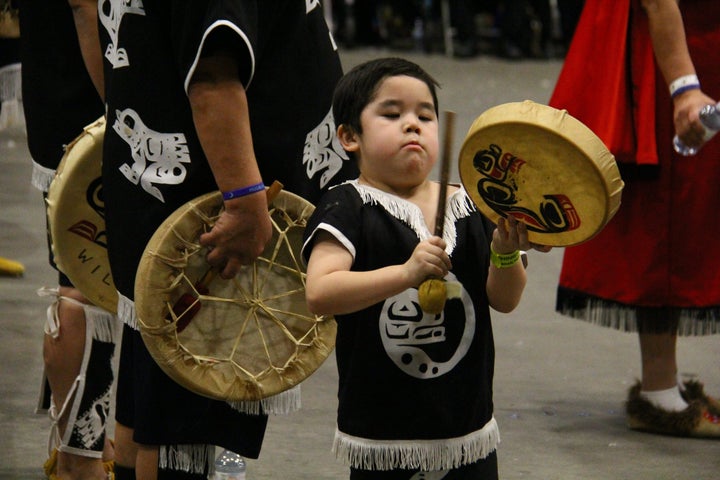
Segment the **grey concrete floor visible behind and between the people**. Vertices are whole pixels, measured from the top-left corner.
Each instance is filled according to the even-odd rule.
[[[382,50],[343,51],[346,67]],[[550,97],[561,61],[451,60],[400,53],[442,84],[441,109],[458,114],[453,151],[485,109]],[[34,413],[41,375],[47,300],[35,290],[55,284],[47,265],[43,207],[30,186],[30,158],[19,131],[0,132],[0,256],[21,261],[22,278],[0,277],[0,479],[41,479],[49,420]],[[456,171],[452,174],[457,180]],[[623,401],[639,375],[637,338],[557,315],[562,249],[530,253],[529,284],[520,307],[494,315],[497,345],[495,415],[502,443],[501,477],[514,479],[720,478],[720,443],[636,433],[625,427]],[[699,375],[720,395],[718,337],[681,339],[683,373]],[[336,373],[329,359],[303,384],[303,409],[270,419],[260,459],[247,478],[341,479],[347,470],[330,445]]]

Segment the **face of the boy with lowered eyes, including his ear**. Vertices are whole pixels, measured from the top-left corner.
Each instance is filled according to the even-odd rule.
[[[438,156],[438,118],[430,89],[408,76],[388,77],[360,114],[362,134],[341,128],[361,176],[396,188],[419,185]]]

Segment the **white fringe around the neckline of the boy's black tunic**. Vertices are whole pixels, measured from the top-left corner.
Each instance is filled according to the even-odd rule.
[[[363,203],[380,205],[390,215],[406,223],[420,240],[425,240],[431,236],[422,211],[414,203],[378,190],[377,188],[361,185],[357,180],[350,180],[347,183],[355,187]],[[463,188],[460,188],[448,198],[445,209],[445,226],[443,227],[443,239],[447,244],[445,251],[448,255],[452,254],[457,244],[455,223],[461,218],[470,216],[475,210],[475,204]]]

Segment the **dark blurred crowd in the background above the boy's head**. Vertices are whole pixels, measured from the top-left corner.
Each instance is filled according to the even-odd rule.
[[[345,48],[383,46],[458,58],[561,58],[584,0],[330,0]]]

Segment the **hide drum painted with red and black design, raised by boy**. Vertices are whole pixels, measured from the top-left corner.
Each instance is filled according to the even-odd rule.
[[[570,246],[599,233],[620,207],[623,181],[603,142],[565,110],[526,100],[486,110],[459,156],[463,186],[491,221],[512,215],[528,239]]]

